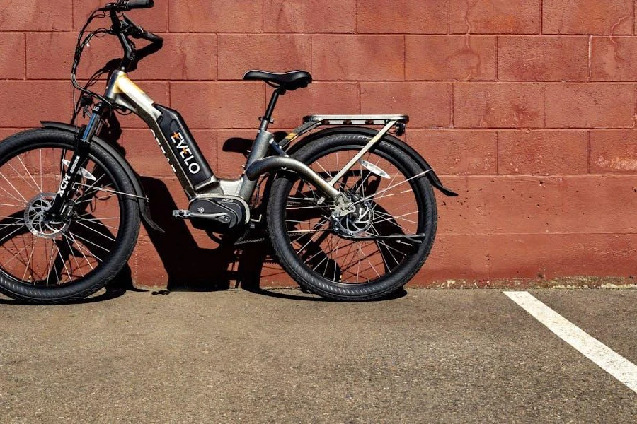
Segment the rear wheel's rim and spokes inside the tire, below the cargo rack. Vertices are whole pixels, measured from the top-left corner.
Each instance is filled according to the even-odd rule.
[[[360,146],[335,146],[307,162],[331,179]],[[285,225],[294,253],[314,275],[345,285],[372,283],[395,273],[418,244],[410,240],[350,240],[351,237],[418,235],[425,228],[416,179],[380,149],[366,153],[335,187],[355,201],[356,213],[333,216],[333,203],[299,180],[286,199]]]

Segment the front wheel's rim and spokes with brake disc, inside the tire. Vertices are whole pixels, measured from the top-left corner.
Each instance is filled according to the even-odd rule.
[[[93,156],[81,169],[69,219],[45,212],[73,151],[28,146],[0,165],[0,271],[33,286],[65,286],[106,260],[120,232],[122,204],[112,175]]]

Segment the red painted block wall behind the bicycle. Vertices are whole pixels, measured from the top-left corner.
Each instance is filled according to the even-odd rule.
[[[76,30],[102,3],[0,0],[0,136],[68,120]],[[460,194],[437,197],[437,242],[415,283],[635,273],[633,0],[156,0],[131,16],[166,38],[132,78],[183,113],[219,175],[239,174],[223,143],[253,136],[268,95],[240,81],[247,69],[313,74],[282,98],[280,129],[312,112],[411,115],[408,142]],[[88,50],[84,71],[118,47]],[[122,125],[134,167],[185,207],[149,131]],[[226,259],[213,263],[236,268]],[[142,285],[171,273],[143,230],[131,266]],[[265,267],[263,285],[287,281]]]

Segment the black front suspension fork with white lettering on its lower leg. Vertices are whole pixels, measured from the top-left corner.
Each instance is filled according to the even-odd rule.
[[[47,211],[47,218],[57,220],[63,218],[69,212],[67,207],[67,199],[74,196],[77,191],[75,183],[77,182],[77,175],[80,173],[81,167],[86,165],[88,160],[88,152],[91,147],[91,140],[93,136],[97,134],[103,124],[103,118],[110,112],[108,105],[104,102],[98,102],[93,107],[93,113],[91,118],[88,119],[88,124],[82,126],[80,131],[75,134],[75,151],[71,162],[67,167],[67,171],[62,175],[62,180],[59,182],[59,188],[53,204],[49,211]],[[62,166],[62,164],[60,164]]]

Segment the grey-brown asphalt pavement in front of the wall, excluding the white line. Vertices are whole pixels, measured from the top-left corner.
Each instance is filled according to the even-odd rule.
[[[637,363],[637,290],[530,290]],[[635,423],[637,393],[502,290],[0,300],[0,423]]]

